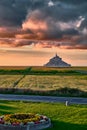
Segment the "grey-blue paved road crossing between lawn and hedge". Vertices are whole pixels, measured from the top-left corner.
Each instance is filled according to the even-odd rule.
[[[53,96],[31,96],[31,95],[13,95],[0,94],[0,100],[9,101],[32,101],[32,102],[63,102],[68,101],[70,104],[87,104],[87,98],[77,97],[53,97]]]

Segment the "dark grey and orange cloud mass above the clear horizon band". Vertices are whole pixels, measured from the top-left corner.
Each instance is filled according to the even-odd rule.
[[[1,0],[0,46],[32,43],[87,49],[87,0]]]

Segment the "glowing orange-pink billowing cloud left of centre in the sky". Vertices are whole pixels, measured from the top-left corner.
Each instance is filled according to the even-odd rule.
[[[42,19],[42,13],[35,10],[27,15],[26,20],[22,24],[22,30],[30,30],[28,38],[44,39],[45,33],[48,31],[46,20]],[[27,35],[23,35],[26,37]]]

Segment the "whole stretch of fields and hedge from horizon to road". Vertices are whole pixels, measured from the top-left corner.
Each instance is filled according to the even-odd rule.
[[[87,67],[2,68],[0,93],[87,97]]]

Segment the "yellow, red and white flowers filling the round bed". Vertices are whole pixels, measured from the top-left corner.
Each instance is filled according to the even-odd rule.
[[[6,125],[40,124],[46,121],[48,121],[46,116],[34,113],[6,114],[0,117],[0,124]]]

